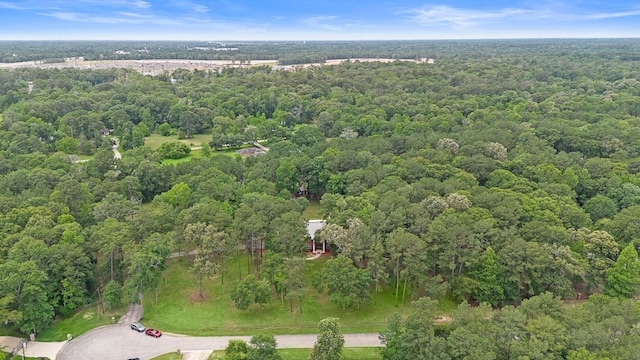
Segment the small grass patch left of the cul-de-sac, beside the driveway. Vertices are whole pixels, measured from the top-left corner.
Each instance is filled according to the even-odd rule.
[[[109,310],[104,315],[98,315],[98,306],[91,306],[69,318],[55,320],[49,327],[39,333],[36,339],[38,341],[64,341],[67,340],[67,334],[71,334],[76,338],[93,328],[111,324],[112,316],[115,317],[117,322],[125,309],[125,307],[120,307]]]

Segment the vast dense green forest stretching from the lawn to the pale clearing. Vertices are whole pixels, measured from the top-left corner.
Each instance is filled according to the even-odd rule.
[[[37,332],[98,297],[135,300],[157,286],[174,249],[198,249],[194,271],[206,276],[234,256],[229,248],[253,254],[264,240],[264,271],[277,272],[278,262],[304,252],[302,212],[318,199],[329,223],[318,236],[337,255],[326,287],[345,308],[379,287],[396,288],[398,298],[506,306],[499,316],[511,323],[529,315],[509,305],[545,293],[604,293],[596,299],[606,311],[630,306],[621,300],[640,285],[640,42],[436,45],[415,53],[434,64],[155,77],[0,71],[2,319]],[[163,164],[166,154],[144,146],[163,131],[210,133],[206,155]],[[257,140],[267,141],[265,156],[213,151]],[[301,188],[308,196],[296,198]],[[263,270],[251,259],[252,271]],[[287,276],[271,275],[263,277],[276,289]],[[469,321],[484,318],[483,309]],[[637,340],[637,311],[626,313],[631,320],[624,314],[598,324]],[[590,331],[559,316],[529,318],[532,327],[562,329],[551,337]],[[408,333],[401,328],[412,319],[396,319],[396,330]],[[510,339],[531,334],[522,331]],[[583,343],[564,341],[549,348],[553,356],[533,358],[605,351]]]

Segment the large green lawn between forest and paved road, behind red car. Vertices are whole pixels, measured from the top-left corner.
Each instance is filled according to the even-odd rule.
[[[317,324],[323,318],[333,316],[340,319],[345,333],[378,332],[386,327],[387,318],[395,313],[406,314],[410,309],[406,304],[396,307],[395,289],[386,289],[372,293],[369,304],[360,309],[342,310],[332,304],[326,294],[319,294],[311,286],[314,274],[319,273],[328,256],[308,261],[305,277],[308,284],[305,290],[302,313],[297,299],[284,303],[274,293],[271,303],[260,308],[253,306],[241,311],[235,308],[230,299],[232,286],[238,279],[238,261],[225,261],[224,285],[220,275],[203,284],[204,299],[198,296],[198,288],[189,272],[192,258],[184,257],[168,261],[162,284],[158,288],[158,303],[154,304],[153,292],[144,296],[144,323],[162,331],[183,335],[257,335],[257,334],[313,334]],[[247,275],[246,257],[240,258],[242,276]]]

